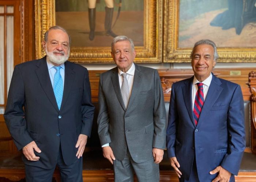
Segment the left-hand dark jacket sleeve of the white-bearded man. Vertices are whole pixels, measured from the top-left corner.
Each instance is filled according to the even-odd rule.
[[[20,69],[16,66],[9,88],[4,119],[18,150],[21,150],[24,146],[33,141],[26,130],[26,118],[23,110],[24,104],[24,82]]]

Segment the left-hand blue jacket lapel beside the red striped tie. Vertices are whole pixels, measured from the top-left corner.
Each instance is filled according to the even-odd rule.
[[[196,127],[194,122],[194,116],[193,116],[193,106],[192,106],[192,84],[193,84],[193,76],[185,82],[184,87],[182,87],[182,93],[183,98],[185,101],[185,105],[187,107],[187,111],[189,114],[189,117],[191,119],[191,122],[193,123],[194,127]]]

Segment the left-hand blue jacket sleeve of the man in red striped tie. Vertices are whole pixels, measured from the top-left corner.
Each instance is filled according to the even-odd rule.
[[[166,131],[166,146],[168,158],[176,157],[175,155],[175,141],[176,141],[176,122],[178,114],[176,109],[176,100],[174,92],[174,84],[172,84],[172,93],[169,105],[168,126]]]

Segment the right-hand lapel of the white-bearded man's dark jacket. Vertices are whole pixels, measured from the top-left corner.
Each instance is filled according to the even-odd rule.
[[[65,105],[65,102],[68,99],[69,92],[71,88],[73,88],[75,79],[75,72],[73,71],[72,64],[70,62],[65,62],[65,79],[64,79],[64,89],[63,89],[63,97],[61,102],[60,109]]]

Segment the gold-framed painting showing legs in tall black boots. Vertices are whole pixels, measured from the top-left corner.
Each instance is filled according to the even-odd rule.
[[[112,63],[113,37],[126,35],[134,41],[136,63],[160,63],[162,9],[162,0],[35,0],[36,58],[45,55],[45,31],[60,25],[71,36],[72,62]]]

